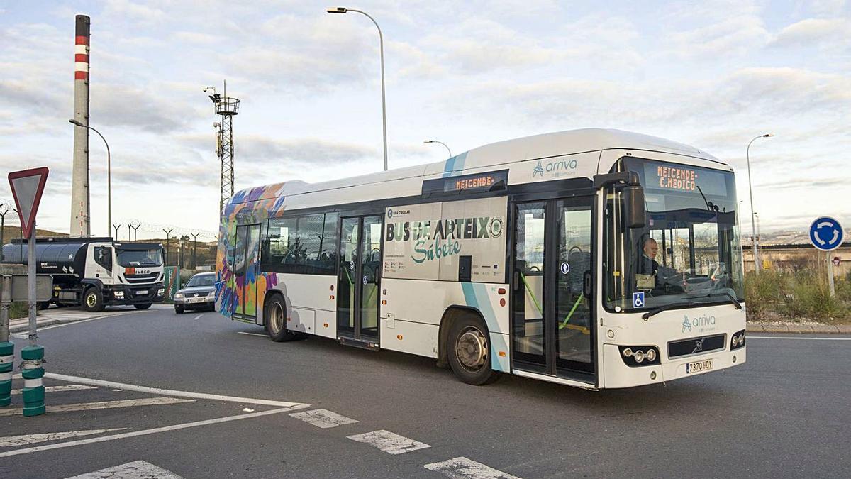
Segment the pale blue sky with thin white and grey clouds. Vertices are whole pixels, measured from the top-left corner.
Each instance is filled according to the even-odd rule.
[[[0,2],[0,167],[47,165],[39,226],[70,225],[74,15],[91,16],[91,120],[112,219],[214,232],[219,163],[204,86],[241,101],[237,189],[381,168],[374,25],[288,0]],[[739,172],[762,229],[851,223],[851,3],[406,0],[343,3],[385,35],[391,168],[585,127],[692,144]],[[92,135],[92,233],[106,149]],[[9,199],[3,183],[0,198]],[[745,217],[749,210],[745,206]],[[745,231],[749,231],[745,228]],[[846,225],[848,226],[848,225]],[[123,228],[122,236],[126,234]],[[163,234],[160,234],[162,237]]]

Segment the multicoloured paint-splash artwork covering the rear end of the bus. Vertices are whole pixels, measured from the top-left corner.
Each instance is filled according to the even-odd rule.
[[[216,309],[222,315],[256,315],[263,309],[266,291],[278,283],[277,274],[260,271],[259,255],[249,258],[244,251],[237,252],[246,248],[237,238],[237,224],[262,224],[283,212],[284,185],[277,183],[237,192],[222,210],[216,251]],[[256,240],[260,240],[260,234]],[[235,245],[230,251],[229,244]],[[243,264],[246,261],[248,264]],[[244,273],[237,274],[239,271]]]

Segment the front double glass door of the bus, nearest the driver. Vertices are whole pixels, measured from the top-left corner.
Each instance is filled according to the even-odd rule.
[[[511,291],[513,366],[594,382],[593,197],[515,203]]]

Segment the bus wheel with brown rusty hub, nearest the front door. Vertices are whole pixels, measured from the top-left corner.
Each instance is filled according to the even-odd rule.
[[[462,382],[478,386],[499,378],[499,373],[490,366],[488,328],[476,315],[462,315],[454,320],[446,349],[449,366]]]

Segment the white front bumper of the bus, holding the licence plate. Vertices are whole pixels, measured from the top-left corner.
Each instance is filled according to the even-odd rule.
[[[627,366],[620,359],[620,349],[614,344],[603,344],[603,388],[630,388],[644,384],[659,384],[679,378],[699,376],[706,372],[727,369],[744,364],[747,346],[730,351],[719,349],[704,355],[689,355],[677,359],[661,360],[653,366]],[[707,362],[709,361],[709,362]]]

